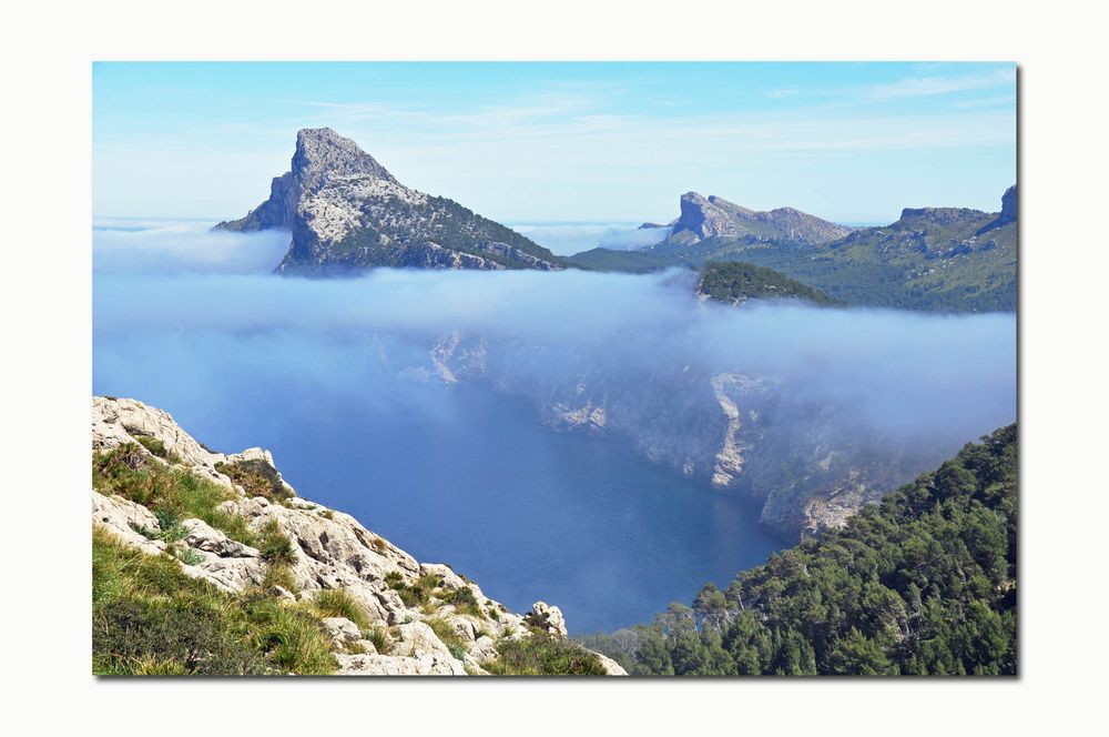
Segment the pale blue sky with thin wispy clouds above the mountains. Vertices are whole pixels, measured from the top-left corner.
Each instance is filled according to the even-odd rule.
[[[998,210],[1011,63],[96,63],[93,213],[241,216],[328,125],[506,222],[667,221],[686,191],[841,222]]]

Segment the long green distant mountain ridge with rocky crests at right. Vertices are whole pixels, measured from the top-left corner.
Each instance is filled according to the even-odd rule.
[[[1003,195],[1000,212],[907,208],[889,225],[821,242],[816,239],[841,226],[788,209],[753,213],[719,198],[705,199],[705,206],[699,198],[682,198],[682,218],[671,236],[655,246],[637,252],[593,249],[568,262],[579,269],[639,273],[742,261],[780,271],[849,305],[1016,310],[1016,185]],[[785,214],[772,219],[773,213]]]

